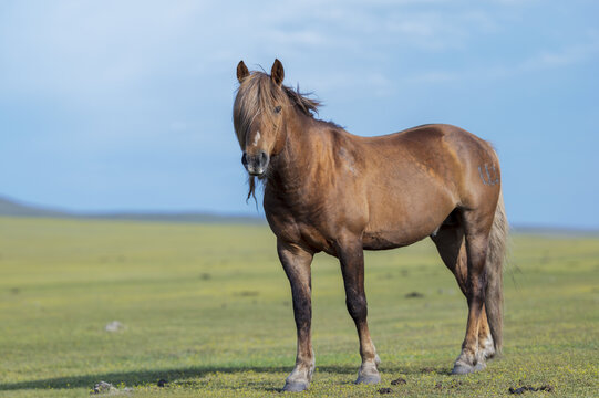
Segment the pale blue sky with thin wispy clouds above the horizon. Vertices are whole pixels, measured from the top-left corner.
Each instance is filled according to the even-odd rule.
[[[595,0],[0,2],[0,196],[73,211],[257,214],[236,66],[372,136],[496,147],[513,224],[599,228]]]

